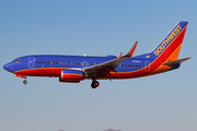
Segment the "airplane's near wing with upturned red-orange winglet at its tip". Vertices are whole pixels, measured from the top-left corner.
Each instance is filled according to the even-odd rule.
[[[137,44],[138,41],[136,41],[132,45],[132,47],[129,49],[129,51],[125,56],[120,53],[116,59],[113,59],[111,61],[106,61],[106,62],[103,62],[93,67],[88,67],[83,69],[84,73],[100,75],[104,78],[111,78],[109,72],[116,72],[115,69],[117,68],[117,64],[130,58],[134,55]]]

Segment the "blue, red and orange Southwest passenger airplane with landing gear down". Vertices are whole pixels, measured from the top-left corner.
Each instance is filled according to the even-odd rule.
[[[33,55],[14,59],[3,69],[23,78],[26,76],[59,78],[59,82],[80,83],[92,80],[92,88],[96,88],[97,80],[121,80],[149,76],[178,69],[181,63],[190,59],[177,59],[188,22],[181,21],[150,52],[132,57],[138,41],[129,51],[118,57],[88,57]]]

